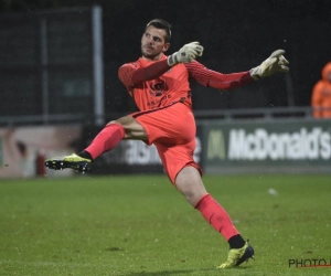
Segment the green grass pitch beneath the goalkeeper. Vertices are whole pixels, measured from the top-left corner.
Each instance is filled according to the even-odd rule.
[[[255,261],[216,269],[227,243],[164,176],[0,180],[0,275],[331,275],[289,267],[289,259],[330,265],[331,176],[204,182],[250,240]]]

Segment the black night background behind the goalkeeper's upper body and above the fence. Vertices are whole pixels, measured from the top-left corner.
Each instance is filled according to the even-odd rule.
[[[134,109],[117,78],[118,67],[140,56],[146,23],[162,18],[172,24],[168,53],[191,41],[204,45],[199,59],[222,73],[259,65],[274,50],[286,50],[290,73],[278,74],[228,93],[192,83],[195,109],[309,106],[313,84],[331,61],[330,0],[113,0],[0,1],[2,12],[90,6],[103,7],[106,108]]]

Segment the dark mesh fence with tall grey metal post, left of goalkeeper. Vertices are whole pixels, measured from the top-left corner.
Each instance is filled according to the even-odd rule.
[[[103,83],[99,7],[0,17],[1,124],[97,118]]]

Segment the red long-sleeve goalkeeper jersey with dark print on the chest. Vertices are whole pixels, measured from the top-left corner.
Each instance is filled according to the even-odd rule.
[[[182,99],[185,99],[182,102],[192,108],[190,77],[203,86],[217,89],[231,89],[254,81],[248,71],[222,74],[206,68],[196,61],[169,67],[166,55],[158,62],[140,57],[136,62],[126,63],[120,66],[118,77],[141,112]]]

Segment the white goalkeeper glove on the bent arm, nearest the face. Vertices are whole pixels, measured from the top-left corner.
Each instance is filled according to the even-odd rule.
[[[168,56],[168,65],[174,66],[179,63],[192,62],[196,56],[202,56],[203,46],[199,42],[191,42],[181,47],[180,51]]]

